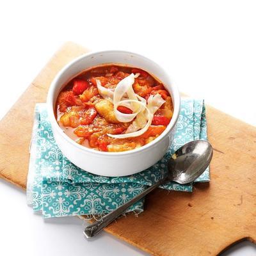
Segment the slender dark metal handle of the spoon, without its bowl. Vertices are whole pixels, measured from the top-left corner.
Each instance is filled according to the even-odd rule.
[[[84,229],[84,236],[86,236],[86,238],[90,238],[98,234],[103,228],[107,227],[112,221],[114,221],[118,216],[120,216],[127,208],[129,208],[132,204],[136,203],[138,200],[143,198],[145,195],[150,193],[155,188],[159,187],[161,184],[165,182],[165,180],[166,179],[159,180],[156,184],[150,186],[140,194],[136,195],[134,198],[127,201],[125,204],[116,208],[114,211],[104,215],[99,221],[93,222],[92,225],[89,225]]]

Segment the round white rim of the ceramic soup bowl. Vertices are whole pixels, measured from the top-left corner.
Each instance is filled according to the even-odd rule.
[[[58,83],[58,80],[61,78],[63,73],[65,73],[68,70],[68,68],[70,68],[75,63],[83,60],[84,58],[91,57],[91,56],[93,56],[95,54],[106,54],[106,53],[108,54],[108,53],[113,53],[113,52],[120,53],[120,54],[121,53],[122,54],[131,54],[131,55],[134,55],[134,56],[138,56],[139,58],[144,58],[147,61],[150,61],[150,62],[154,63],[154,65],[159,67],[159,69],[161,69],[163,71],[163,73],[170,79],[170,76],[168,75],[168,73],[158,63],[156,63],[155,61],[150,60],[150,58],[147,58],[146,56],[143,56],[143,55],[138,54],[136,52],[122,51],[122,50],[91,51],[91,52],[87,52],[85,54],[82,54],[81,56],[78,56],[77,58],[75,58],[72,61],[69,61],[63,68],[61,68],[61,70],[58,72],[58,74],[56,74],[56,76],[52,80],[52,82],[51,82],[51,84],[49,86],[49,91],[47,93],[47,113],[48,113],[48,118],[49,118],[49,121],[50,121],[51,125],[53,125],[54,128],[59,132],[59,134],[61,134],[61,137],[65,141],[67,141],[68,143],[73,145],[74,147],[79,148],[80,150],[83,150],[85,153],[98,154],[98,155],[104,156],[104,157],[127,156],[127,155],[132,155],[132,154],[138,154],[141,151],[148,150],[148,149],[150,149],[150,147],[156,146],[156,144],[159,143],[159,141],[161,141],[164,138],[166,138],[166,136],[168,136],[168,134],[175,127],[175,124],[178,121],[179,113],[180,113],[180,94],[179,94],[179,89],[178,89],[178,87],[175,84],[172,83],[173,116],[172,116],[171,122],[170,122],[170,124],[167,125],[166,129],[155,140],[151,141],[150,143],[148,143],[146,145],[143,145],[143,146],[138,147],[138,148],[134,148],[132,150],[122,151],[122,152],[104,152],[104,151],[95,150],[93,148],[84,147],[83,145],[80,145],[79,143],[76,143],[76,141],[72,140],[72,138],[70,138],[67,134],[65,134],[65,132],[61,129],[60,125],[58,124],[58,122],[57,122],[57,120],[55,118],[54,108],[52,107],[52,105],[56,103],[56,102],[53,102],[53,96],[54,96],[54,92],[56,90],[56,84]],[[115,64],[115,62],[109,62],[109,64],[110,63]],[[105,63],[102,63],[102,65],[103,64],[105,64]],[[108,63],[106,63],[106,64],[108,64]],[[122,63],[120,63],[120,64],[122,64]],[[143,69],[143,67],[138,67],[138,68]],[[79,74],[79,72],[77,72],[77,74]]]

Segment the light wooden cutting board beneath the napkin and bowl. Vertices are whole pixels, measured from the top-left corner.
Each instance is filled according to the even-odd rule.
[[[26,189],[35,103],[45,102],[57,72],[86,51],[63,45],[1,120],[3,179]],[[107,232],[152,255],[217,255],[244,239],[255,243],[256,128],[210,106],[207,121],[215,149],[210,184],[196,184],[193,193],[158,189],[138,218],[120,218]]]

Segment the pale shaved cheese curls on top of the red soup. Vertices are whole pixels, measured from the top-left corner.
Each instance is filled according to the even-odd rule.
[[[116,85],[115,90],[105,88],[101,85],[99,79],[96,79],[100,95],[113,103],[116,119],[119,122],[131,122],[133,120],[125,134],[108,134],[109,137],[123,139],[140,136],[150,127],[154,113],[165,102],[158,93],[156,95],[150,95],[148,100],[136,94],[132,88],[132,84],[134,84],[134,78],[138,76],[140,74],[131,74],[125,77]],[[130,108],[132,114],[125,114],[118,111],[118,106]]]

